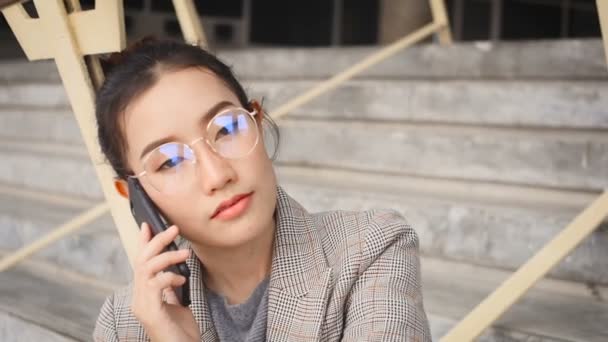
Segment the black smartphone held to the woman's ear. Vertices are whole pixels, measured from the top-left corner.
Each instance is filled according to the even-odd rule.
[[[135,218],[135,222],[137,222],[137,226],[141,228],[141,224],[146,222],[150,226],[153,235],[156,235],[169,228],[169,223],[161,215],[154,202],[152,202],[152,199],[150,199],[150,196],[148,196],[144,188],[139,183],[139,180],[137,178],[129,177],[127,182],[129,183],[129,202],[131,205],[131,213]],[[178,248],[175,242],[171,241],[163,252],[176,251],[177,249]],[[189,306],[190,269],[188,268],[188,265],[186,265],[185,262],[181,262],[179,264],[169,266],[165,271],[180,274],[186,278],[186,282],[182,286],[175,288],[175,294],[183,306]]]

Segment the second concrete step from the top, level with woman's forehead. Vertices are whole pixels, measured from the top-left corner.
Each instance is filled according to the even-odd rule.
[[[244,82],[269,113],[316,83]],[[29,108],[29,109],[28,109]],[[59,109],[57,109],[59,108]],[[60,83],[0,85],[0,120],[24,128],[65,120]],[[606,81],[355,80],[296,109],[291,117],[453,125],[608,129]],[[52,123],[52,127],[58,127]],[[22,133],[23,129],[13,132]]]

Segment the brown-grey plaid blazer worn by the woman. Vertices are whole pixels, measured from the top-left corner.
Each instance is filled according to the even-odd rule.
[[[310,214],[277,187],[268,285],[268,341],[430,341],[418,238],[393,210]],[[192,253],[190,308],[201,341],[218,341]],[[101,308],[95,341],[149,341],[131,312],[131,285]]]

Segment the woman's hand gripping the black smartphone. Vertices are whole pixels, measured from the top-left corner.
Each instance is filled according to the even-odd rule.
[[[192,311],[181,306],[173,290],[173,287],[183,285],[186,278],[173,272],[163,272],[167,267],[188,259],[190,251],[187,249],[161,253],[178,232],[177,226],[171,226],[151,238],[152,233],[146,223],[142,224],[139,232],[131,310],[152,341],[200,341]]]

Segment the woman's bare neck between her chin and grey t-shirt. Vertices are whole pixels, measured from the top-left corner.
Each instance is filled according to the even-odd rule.
[[[229,304],[240,304],[270,275],[275,221],[264,234],[235,248],[209,248],[192,245],[203,264],[203,281]]]

